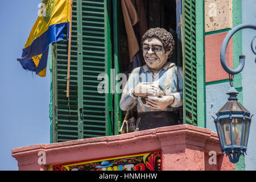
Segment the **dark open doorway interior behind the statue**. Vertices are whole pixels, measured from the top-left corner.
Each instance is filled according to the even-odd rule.
[[[160,27],[166,29],[168,32],[171,32],[172,36],[175,39],[175,49],[174,53],[172,54],[172,57],[168,61],[172,61],[176,65],[182,66],[181,43],[177,44],[177,42],[179,42],[180,40],[177,38],[176,32],[177,24],[179,23],[177,21],[180,21],[180,19],[177,20],[177,14],[181,12],[176,12],[177,6],[179,6],[176,4],[176,0],[131,0],[131,2],[133,3],[133,6],[137,10],[140,21],[143,22],[141,22],[141,27],[147,27],[146,30],[148,30],[149,28]],[[129,9],[129,5],[126,6],[126,8]],[[121,18],[119,28],[121,41],[121,56],[119,59],[119,70],[121,73],[125,73],[128,77],[129,73],[131,73],[131,71],[133,71],[134,68],[142,66],[145,63],[142,57],[141,50],[139,50],[137,55],[134,56],[137,58],[131,60],[129,52],[129,44],[131,43],[131,40],[129,40],[129,35],[127,35],[127,22],[125,22],[127,21],[127,17],[125,16],[127,15],[125,15],[125,11],[123,10],[123,7],[121,7]],[[138,46],[141,49],[142,30],[139,30],[138,23],[135,24],[135,26],[133,26],[133,30],[137,38],[137,40],[135,41],[137,41]],[[183,123],[183,107],[179,108],[178,113],[179,123]],[[122,121],[125,117],[125,114],[126,112],[122,111]]]

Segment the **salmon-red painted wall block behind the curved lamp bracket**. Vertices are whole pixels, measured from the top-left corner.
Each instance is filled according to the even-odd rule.
[[[229,78],[220,63],[220,49],[228,32],[205,36],[205,82]],[[233,69],[233,47],[230,39],[226,48],[226,63]]]

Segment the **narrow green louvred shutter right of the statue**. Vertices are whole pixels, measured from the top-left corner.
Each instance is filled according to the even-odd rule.
[[[197,126],[195,0],[183,0],[183,76],[184,123]]]

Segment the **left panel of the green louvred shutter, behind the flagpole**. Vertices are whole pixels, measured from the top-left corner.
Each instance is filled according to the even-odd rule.
[[[78,139],[78,55],[77,55],[77,3],[73,1],[72,46],[69,99],[67,90],[68,41],[52,44],[53,143]]]

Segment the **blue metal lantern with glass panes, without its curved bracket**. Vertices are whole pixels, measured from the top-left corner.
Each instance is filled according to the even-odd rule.
[[[228,102],[217,112],[214,118],[222,154],[237,163],[240,155],[246,154],[251,124],[250,112],[237,101],[237,90],[231,87],[226,93]]]

